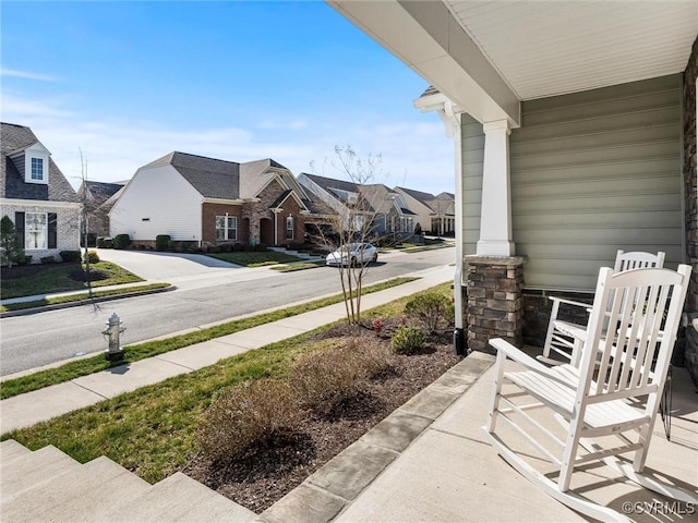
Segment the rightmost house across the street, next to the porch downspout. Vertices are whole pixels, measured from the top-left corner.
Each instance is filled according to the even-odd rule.
[[[405,198],[407,207],[417,215],[422,231],[438,236],[453,236],[456,230],[456,198],[452,193],[431,193],[407,187],[394,191]]]

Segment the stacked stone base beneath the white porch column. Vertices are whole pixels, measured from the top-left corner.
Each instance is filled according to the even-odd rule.
[[[466,256],[468,349],[494,354],[492,338],[524,345],[522,256]]]

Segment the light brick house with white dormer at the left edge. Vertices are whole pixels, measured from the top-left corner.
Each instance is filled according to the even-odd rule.
[[[77,194],[29,127],[0,124],[0,205],[32,263],[80,250]]]

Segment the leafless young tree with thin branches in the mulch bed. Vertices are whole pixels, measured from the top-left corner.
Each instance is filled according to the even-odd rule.
[[[347,320],[350,324],[359,324],[363,279],[372,259],[354,256],[353,253],[357,252],[356,245],[378,240],[376,215],[380,205],[372,198],[375,193],[366,191],[365,185],[373,183],[376,177],[383,173],[382,157],[369,155],[360,158],[351,146],[335,146],[335,157],[333,167],[357,185],[357,191],[339,196],[341,205],[334,206],[338,212],[332,220],[330,230],[317,228],[317,240],[330,253],[340,253],[338,273]]]

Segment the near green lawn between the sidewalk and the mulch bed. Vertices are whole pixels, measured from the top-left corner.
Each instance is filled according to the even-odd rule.
[[[433,291],[449,294],[450,284],[424,292]],[[401,314],[411,297],[377,307],[366,318]],[[15,439],[32,450],[53,445],[81,463],[106,455],[155,483],[184,466],[196,451],[194,438],[202,416],[222,389],[249,379],[285,376],[299,354],[314,349],[309,342],[312,336],[249,351],[0,439]]]

